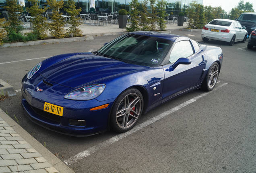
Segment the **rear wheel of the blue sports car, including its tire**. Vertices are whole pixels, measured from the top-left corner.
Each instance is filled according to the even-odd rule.
[[[202,89],[204,91],[212,91],[217,83],[218,77],[219,77],[219,64],[217,62],[214,62],[210,66],[204,78],[204,81],[202,82]]]

